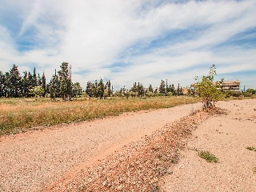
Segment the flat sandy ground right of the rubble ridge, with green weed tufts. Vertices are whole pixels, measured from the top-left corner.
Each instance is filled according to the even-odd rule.
[[[218,102],[229,114],[212,117],[194,131],[181,161],[161,191],[256,191],[256,100]],[[208,150],[219,162],[198,157]]]

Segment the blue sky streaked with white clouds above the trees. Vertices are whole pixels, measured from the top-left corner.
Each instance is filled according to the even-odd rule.
[[[45,73],[62,62],[72,82],[114,90],[216,80],[256,89],[256,1],[0,0],[0,70]]]

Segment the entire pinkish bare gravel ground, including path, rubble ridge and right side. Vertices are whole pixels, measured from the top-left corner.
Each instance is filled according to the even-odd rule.
[[[0,190],[253,191],[256,102],[218,106],[227,114],[197,103],[3,136]]]

